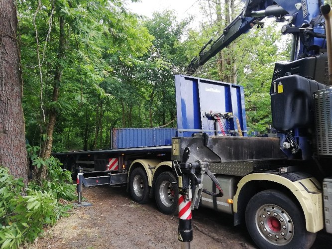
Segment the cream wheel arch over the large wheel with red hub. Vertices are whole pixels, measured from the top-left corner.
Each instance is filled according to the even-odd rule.
[[[292,172],[292,181],[284,175],[253,173],[244,176],[237,184],[233,198],[234,225],[244,221],[249,200],[258,192],[276,189],[290,197],[303,211],[308,232],[316,233],[324,228],[322,191],[318,181],[303,172]],[[304,175],[307,177],[304,178]]]

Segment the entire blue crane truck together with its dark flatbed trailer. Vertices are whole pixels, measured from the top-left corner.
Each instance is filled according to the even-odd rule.
[[[189,76],[175,76],[171,144],[55,156],[73,171],[89,165],[86,186],[127,183],[136,202],[154,197],[161,212],[178,210],[183,248],[193,236],[191,210],[200,206],[232,215],[235,226],[245,223],[259,248],[310,248],[317,232],[332,233],[332,14],[323,4],[246,0],[191,61]],[[190,75],[241,34],[263,26],[265,17],[287,23],[282,33],[293,35],[292,50],[271,77],[276,135],[248,137],[243,87]],[[110,170],[116,159],[118,168]]]

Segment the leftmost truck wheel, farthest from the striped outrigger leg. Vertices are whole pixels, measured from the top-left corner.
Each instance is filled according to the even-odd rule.
[[[148,185],[147,175],[142,168],[135,168],[130,173],[129,191],[135,202],[144,204],[149,202],[150,188]]]

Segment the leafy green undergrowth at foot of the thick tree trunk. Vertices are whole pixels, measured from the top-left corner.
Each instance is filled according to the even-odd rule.
[[[29,148],[31,152],[36,148]],[[8,169],[0,166],[0,248],[18,248],[25,242],[33,242],[45,225],[54,225],[72,208],[64,200],[76,199],[71,173],[61,169],[54,157],[40,159],[30,154],[34,165],[47,167],[47,179],[40,185],[22,179],[14,179]]]

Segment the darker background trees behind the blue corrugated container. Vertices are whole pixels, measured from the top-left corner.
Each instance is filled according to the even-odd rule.
[[[133,38],[133,41],[136,45],[144,44],[147,52],[144,54],[141,49],[140,53],[131,53],[130,49],[123,49],[126,41],[121,49],[110,47],[106,44],[111,39],[108,37],[104,40],[101,59],[107,62],[109,71],[95,85],[86,84],[87,79],[82,78],[86,58],[80,57],[77,64],[73,63],[77,70],[70,72],[71,82],[61,86],[61,99],[68,99],[72,108],[61,109],[61,112],[58,109],[53,151],[109,148],[113,127],[162,126],[171,121],[169,127],[176,125],[174,73],[180,73],[188,61],[181,42],[188,21],[177,22],[171,11],[155,13],[146,20],[130,15],[128,20],[129,23],[121,25],[136,29],[138,26],[136,31],[140,30],[139,35],[147,40]],[[84,53],[81,45],[80,48]],[[27,102],[27,107],[33,103]],[[30,117],[31,109],[25,110]],[[37,119],[31,118],[26,119]],[[35,145],[39,142],[38,124],[29,121],[28,139]]]

